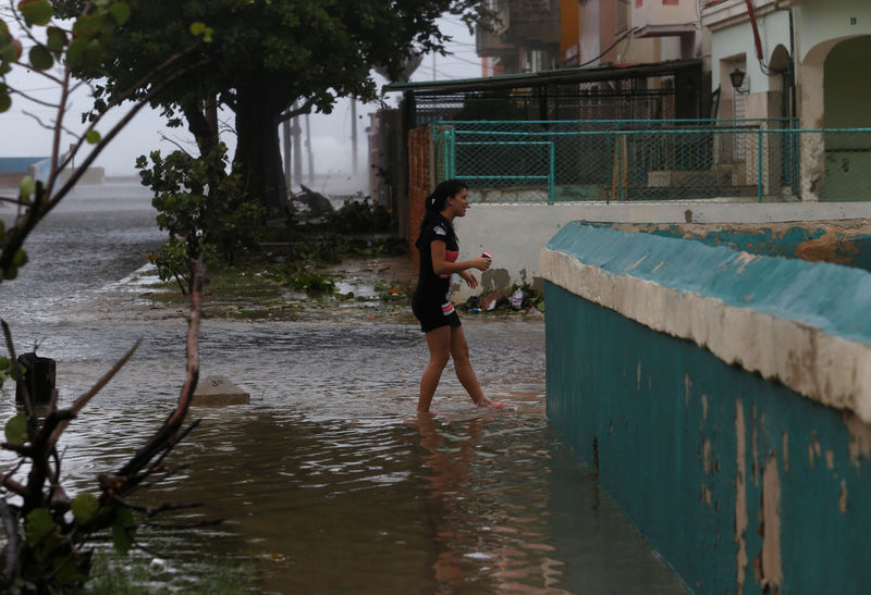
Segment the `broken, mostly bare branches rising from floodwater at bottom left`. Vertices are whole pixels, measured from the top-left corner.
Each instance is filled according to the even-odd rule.
[[[144,523],[142,521],[137,523],[133,518],[134,511],[144,515],[146,519],[151,519],[163,512],[201,506],[200,504],[163,504],[157,507],[144,507],[125,499],[127,495],[142,487],[146,478],[164,470],[164,458],[199,423],[197,420],[184,427],[199,379],[198,334],[205,283],[203,258],[194,264],[193,271],[194,284],[186,343],[187,377],[176,407],[121,471],[114,474],[99,475],[98,481],[102,493],[98,498],[88,494],[78,494],[71,499],[66,495],[61,485],[61,457],[58,454],[58,441],[71,421],[119,372],[140,343],[137,342],[109,372],[69,408],[58,409],[58,393],[54,391],[49,408],[47,412],[44,410],[44,413],[40,413],[44,414],[44,418],[40,419],[37,417],[29,395],[26,395],[26,391],[24,391],[27,410],[24,416],[19,416],[26,419],[26,432],[23,420],[16,420],[13,431],[8,432],[7,442],[2,443],[3,448],[16,454],[17,461],[11,469],[0,474],[0,486],[4,489],[0,495],[0,531],[5,534],[4,551],[0,558],[3,560],[0,588],[12,585],[23,574],[35,577],[34,584],[38,591],[50,592],[52,585],[79,585],[81,579],[76,578],[71,582],[70,578],[64,578],[65,574],[69,574],[65,570],[72,567],[86,574],[90,553],[83,549],[83,546],[106,535],[106,530],[111,529],[112,541],[121,551],[126,551],[130,547],[145,549],[143,544],[135,540],[136,528]],[[13,361],[16,361],[11,332],[5,322],[2,322],[2,330]],[[13,374],[22,389],[25,389],[23,374],[17,365],[13,367]],[[29,469],[27,469],[26,481],[21,482],[13,479],[27,467]],[[20,498],[21,504],[10,504],[10,498]],[[70,510],[75,517],[74,521],[66,517]],[[35,520],[32,520],[32,517]],[[36,542],[25,540],[23,533],[25,519],[27,519],[27,523],[33,522],[34,526],[46,528],[45,536],[39,537]],[[206,521],[199,524],[188,524],[187,529],[219,522]],[[154,526],[150,523],[148,525]],[[42,553],[37,556],[35,548],[42,547],[44,542],[49,537],[59,540],[57,545],[52,545],[48,554]]]

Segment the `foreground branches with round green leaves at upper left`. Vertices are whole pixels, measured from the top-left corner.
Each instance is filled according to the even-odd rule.
[[[82,83],[74,82],[72,74],[77,72],[83,77],[96,77],[103,72],[106,64],[111,61],[110,50],[113,50],[118,41],[115,34],[130,16],[130,7],[114,0],[88,2],[71,23],[62,23],[54,21],[54,10],[49,0],[21,0],[19,10],[12,10],[11,14],[22,34],[14,37],[7,23],[0,21],[0,113],[8,111],[13,97],[17,97],[20,100],[51,109],[53,119],[44,122],[33,116],[38,125],[52,133],[47,178],[35,181],[25,176],[17,197],[0,197],[0,201],[19,208],[19,215],[8,230],[0,222],[0,282],[15,278],[19,268],[27,262],[27,255],[23,249],[27,235],[63,200],[118,133],[164,86],[208,62],[207,58],[200,57],[197,61],[170,72],[174,62],[193,53],[196,47],[196,38],[188,34],[185,37],[186,47],[140,74],[139,84],[134,89],[146,85],[148,89],[132,106],[124,108],[125,111],[116,124],[102,134],[99,132],[105,116],[121,109],[120,103],[131,96],[131,89],[120,90],[114,100],[103,103],[100,113],[93,115],[85,129],[73,135],[72,149],[61,156],[62,134],[73,134],[66,122],[71,96],[83,87]],[[64,24],[68,25],[66,28],[62,26]],[[15,67],[26,69],[56,85],[57,101],[42,101],[10,86],[7,75]],[[78,161],[79,166],[61,184],[61,171],[74,161]]]

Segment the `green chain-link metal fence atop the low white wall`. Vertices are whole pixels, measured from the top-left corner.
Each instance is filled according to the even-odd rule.
[[[794,120],[438,122],[436,175],[490,202],[871,199],[871,128]]]

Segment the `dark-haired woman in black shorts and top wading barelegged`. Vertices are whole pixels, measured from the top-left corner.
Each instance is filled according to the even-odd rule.
[[[436,387],[450,358],[454,358],[456,377],[479,407],[492,404],[484,398],[469,361],[466,336],[459,317],[451,302],[453,273],[473,289],[478,280],[470,269],[486,271],[490,259],[483,256],[457,262],[459,245],[454,233],[454,218],[465,216],[469,208],[467,186],[457,179],[446,179],[427,197],[427,213],[420,224],[420,237],[415,244],[420,252],[420,273],[412,298],[412,309],[427,335],[429,364],[420,380],[417,411],[429,411]]]

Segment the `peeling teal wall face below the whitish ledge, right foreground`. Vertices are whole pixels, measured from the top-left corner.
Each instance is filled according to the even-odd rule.
[[[545,300],[550,422],[690,588],[871,593],[871,443],[844,413],[552,283]]]

